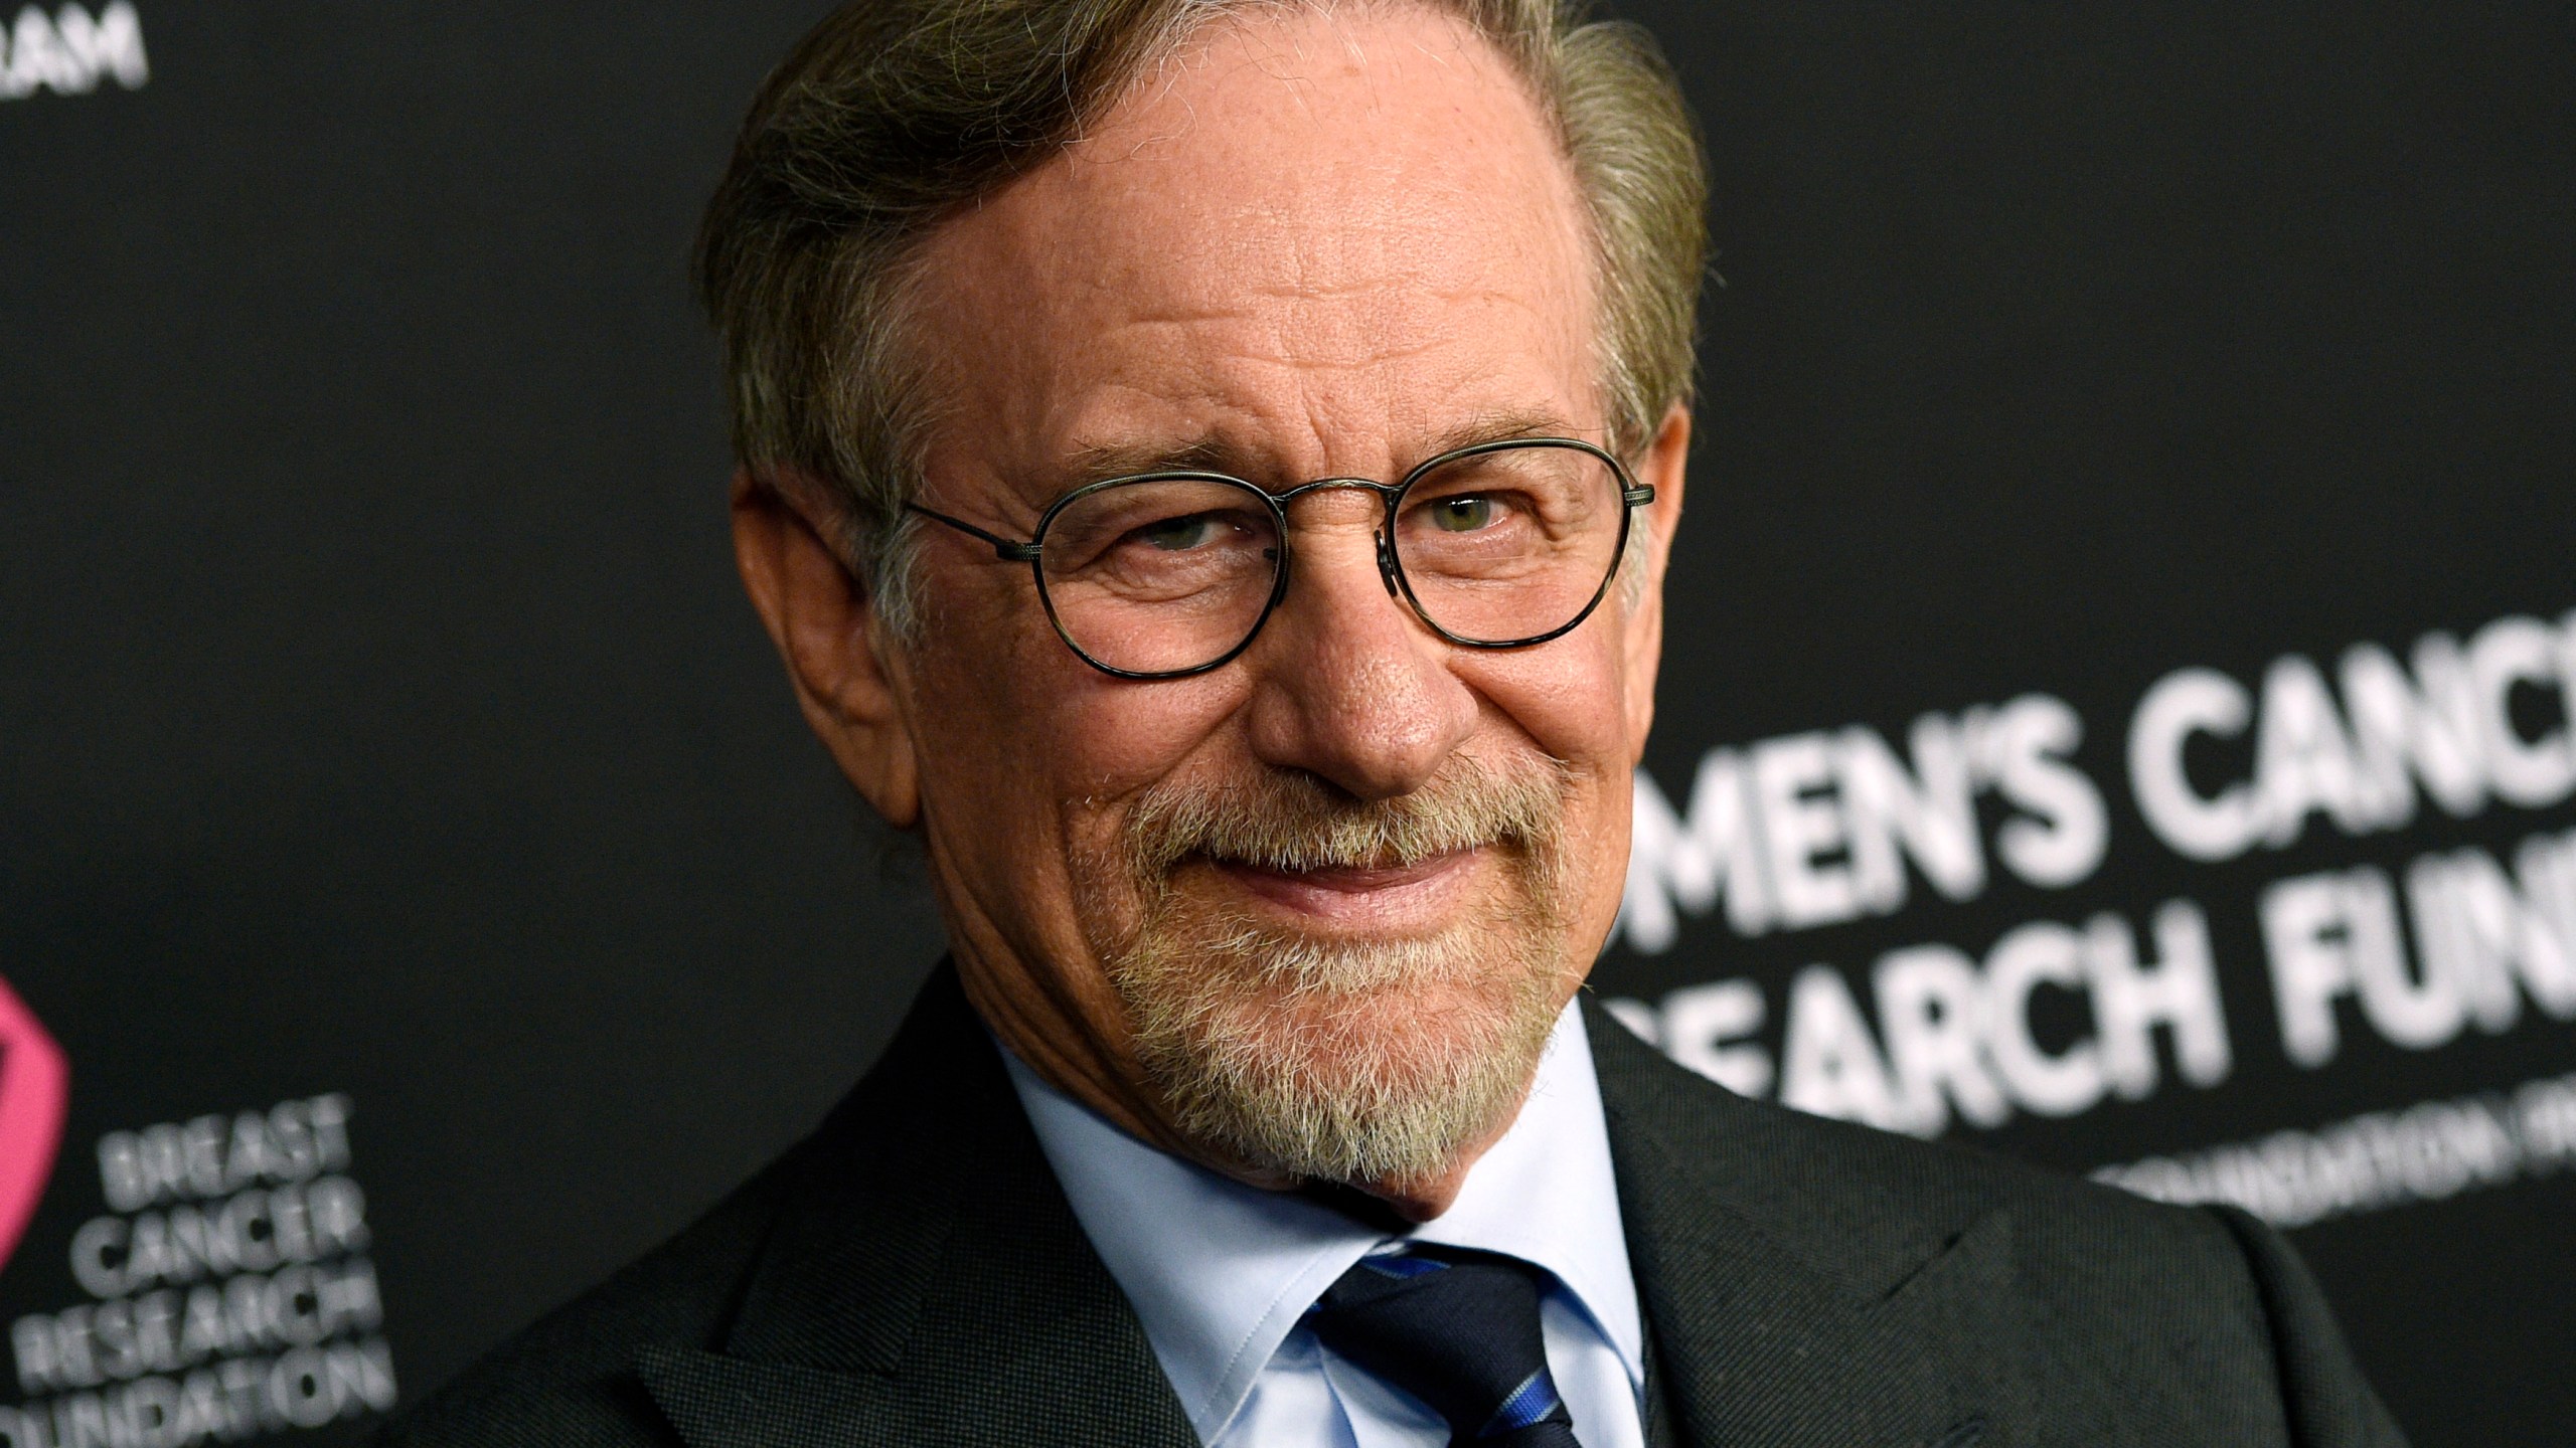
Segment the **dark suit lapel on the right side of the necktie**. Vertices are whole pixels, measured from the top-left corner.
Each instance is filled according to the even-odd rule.
[[[1692,1448],[2002,1448],[2012,1224],[1893,1193],[1850,1159],[1904,1141],[1788,1118],[1664,1062],[1587,1010],[1628,1257],[1672,1435]],[[1929,1198],[1929,1201],[1924,1201]]]

